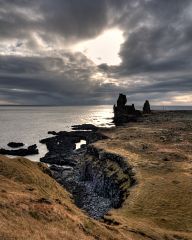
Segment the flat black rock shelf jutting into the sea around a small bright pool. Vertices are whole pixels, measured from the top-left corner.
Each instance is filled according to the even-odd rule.
[[[48,153],[40,159],[41,162],[57,165],[76,165],[76,155],[86,151],[86,145],[83,145],[79,151],[76,149],[76,143],[85,140],[87,144],[97,140],[107,138],[103,134],[96,132],[97,127],[92,124],[83,124],[74,126],[76,129],[87,129],[82,131],[61,131],[49,132],[54,137],[42,139],[40,143],[46,144]]]

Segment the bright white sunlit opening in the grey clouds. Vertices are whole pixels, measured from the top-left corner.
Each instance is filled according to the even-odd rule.
[[[119,52],[123,42],[123,31],[115,28],[104,31],[94,39],[78,43],[73,50],[82,52],[95,64],[119,65]]]

